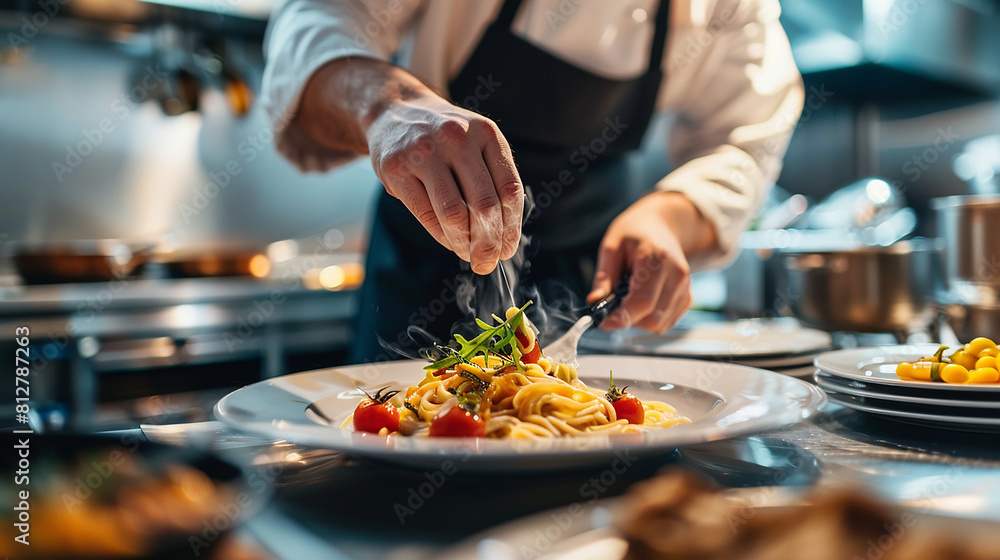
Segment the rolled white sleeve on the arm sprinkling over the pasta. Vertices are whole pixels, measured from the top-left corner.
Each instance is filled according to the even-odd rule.
[[[335,152],[295,126],[302,90],[324,64],[345,57],[389,58],[421,0],[286,0],[264,38],[261,104],[278,151],[303,171],[326,171],[356,154]]]

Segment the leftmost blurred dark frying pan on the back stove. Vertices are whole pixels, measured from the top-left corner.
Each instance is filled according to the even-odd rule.
[[[152,249],[152,244],[115,239],[29,243],[16,247],[12,260],[29,285],[105,282],[136,272]]]

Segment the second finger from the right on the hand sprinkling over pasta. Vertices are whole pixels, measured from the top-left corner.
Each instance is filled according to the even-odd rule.
[[[471,149],[464,149],[464,148]],[[448,158],[459,189],[469,209],[469,241],[472,271],[489,274],[500,260],[503,209],[493,187],[493,178],[478,146],[469,144]]]

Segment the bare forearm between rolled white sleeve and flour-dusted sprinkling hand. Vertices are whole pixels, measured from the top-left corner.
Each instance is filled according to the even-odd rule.
[[[365,154],[368,127],[388,107],[428,95],[437,96],[398,66],[372,58],[341,58],[309,79],[294,125],[330,150]]]

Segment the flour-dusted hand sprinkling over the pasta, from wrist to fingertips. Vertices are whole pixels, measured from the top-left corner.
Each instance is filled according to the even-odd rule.
[[[367,136],[385,190],[438,243],[478,274],[514,256],[524,189],[493,121],[428,92],[388,106]]]

